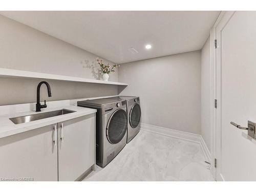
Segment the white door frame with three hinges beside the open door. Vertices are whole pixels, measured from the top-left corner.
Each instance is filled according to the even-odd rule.
[[[211,42],[211,172],[216,181],[225,181],[221,174],[222,130],[222,59],[221,33],[236,11],[221,11],[210,31]],[[215,48],[215,39],[217,48]],[[217,108],[215,108],[217,99]],[[217,160],[217,168],[215,167]]]

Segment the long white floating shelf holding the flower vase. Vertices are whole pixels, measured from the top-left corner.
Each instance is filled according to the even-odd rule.
[[[20,70],[4,69],[4,68],[0,68],[0,77],[39,78],[39,79],[51,79],[51,80],[71,81],[71,82],[87,82],[87,83],[99,83],[99,84],[115,84],[117,86],[128,86],[127,83],[122,83],[122,82],[86,79],[86,78],[80,78],[80,77],[37,73],[37,72],[31,72],[31,71],[20,71]]]

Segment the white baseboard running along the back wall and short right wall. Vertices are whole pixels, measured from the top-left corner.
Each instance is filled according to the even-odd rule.
[[[207,145],[205,144],[204,139],[201,135],[167,129],[165,127],[150,125],[150,124],[146,124],[146,123],[140,123],[140,129],[144,130],[144,131],[148,131],[148,132],[157,133],[160,135],[165,135],[165,136],[174,137],[177,139],[182,139],[182,140],[198,143],[198,144],[200,144],[202,151],[204,153],[205,161],[210,162],[210,159],[211,159],[210,151],[209,151]]]

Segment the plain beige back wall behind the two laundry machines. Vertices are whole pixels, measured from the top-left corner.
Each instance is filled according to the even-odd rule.
[[[201,51],[124,63],[120,95],[140,96],[142,123],[200,134]]]

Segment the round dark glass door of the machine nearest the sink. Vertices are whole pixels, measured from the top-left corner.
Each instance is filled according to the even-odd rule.
[[[106,135],[112,144],[119,143],[127,130],[127,114],[124,110],[117,110],[110,117]]]

